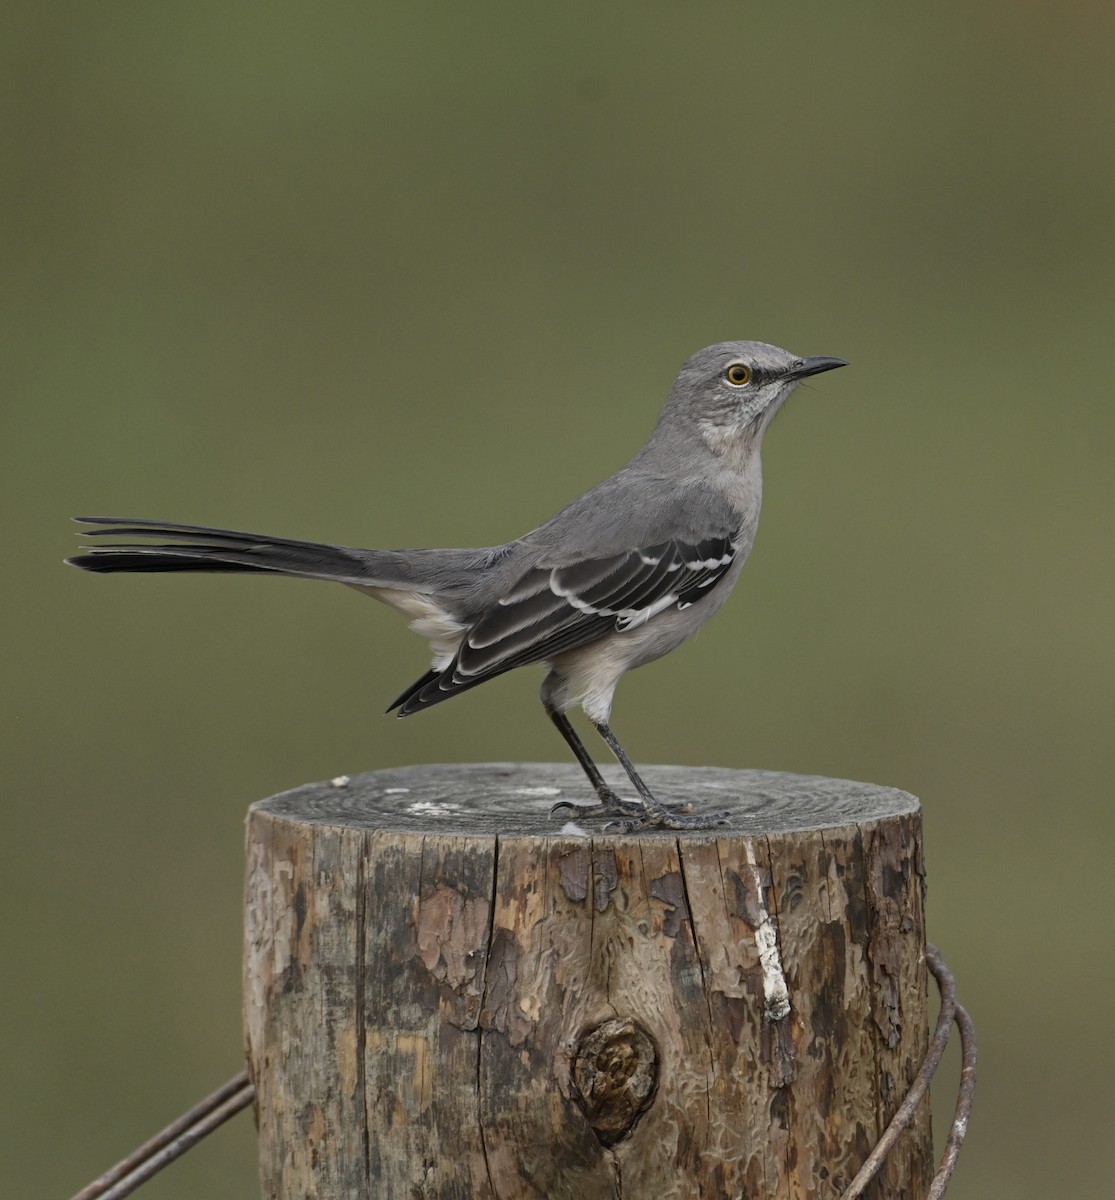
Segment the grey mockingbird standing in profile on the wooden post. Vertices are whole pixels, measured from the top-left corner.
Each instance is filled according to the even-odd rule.
[[[609,726],[631,667],[681,646],[727,599],[755,540],[763,433],[807,376],[847,364],[763,342],[721,342],[682,367],[635,457],[533,533],[485,550],[353,550],[203,526],[78,517],[89,536],[161,545],[83,547],[86,571],[248,571],[347,583],[397,608],[430,641],[433,665],[388,712],[409,716],[532,662],[541,700],[598,803],[629,829],[705,829],[726,814],[657,799]],[[605,782],[567,710],[580,704],[627,772],[637,802]]]

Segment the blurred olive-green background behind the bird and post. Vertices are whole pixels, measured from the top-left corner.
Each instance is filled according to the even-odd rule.
[[[536,674],[395,721],[392,613],[82,575],[66,518],[503,540],[730,337],[852,366],[777,422],[744,586],[617,730],[919,794],[982,1034],[949,1196],[1110,1194],[1113,35],[1097,0],[7,7],[13,1196],[239,1068],[248,803],[565,757]],[[253,1153],[241,1116],[142,1194],[253,1196]]]

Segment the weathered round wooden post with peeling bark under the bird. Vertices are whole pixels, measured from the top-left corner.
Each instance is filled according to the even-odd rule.
[[[646,775],[731,824],[563,829],[551,805],[589,798],[564,764],[380,770],[252,806],[264,1196],[839,1196],[927,1046],[918,803]],[[867,1195],[921,1200],[931,1174],[923,1106]]]

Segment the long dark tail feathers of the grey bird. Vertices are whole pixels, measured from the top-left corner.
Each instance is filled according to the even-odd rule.
[[[236,571],[271,572],[356,586],[407,587],[416,582],[415,552],[354,550],[292,538],[210,529],[205,526],[138,521],[130,517],[76,517],[88,538],[157,538],[161,544],[124,541],[83,547],[66,562],[83,571]],[[170,539],[169,541],[166,539]]]

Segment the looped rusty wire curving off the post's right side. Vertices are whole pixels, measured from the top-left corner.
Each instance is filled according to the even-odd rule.
[[[972,1098],[976,1092],[976,1030],[967,1010],[957,1003],[957,980],[953,973],[945,965],[940,950],[935,946],[925,947],[925,965],[937,982],[941,992],[941,1013],[937,1016],[937,1027],[934,1031],[929,1049],[921,1069],[910,1085],[906,1098],[898,1106],[898,1111],[891,1118],[891,1123],[883,1130],[882,1136],[875,1144],[875,1148],[868,1154],[863,1166],[856,1172],[856,1177],[840,1194],[840,1200],[857,1200],[863,1195],[864,1188],[875,1177],[880,1166],[886,1160],[887,1154],[894,1142],[901,1136],[906,1126],[910,1124],[917,1106],[925,1098],[929,1091],[929,1081],[941,1063],[945,1046],[948,1044],[948,1034],[953,1024],[960,1031],[960,1049],[963,1066],[960,1069],[960,1086],[957,1092],[957,1108],[953,1114],[953,1123],[948,1130],[948,1139],[945,1144],[945,1153],[941,1157],[941,1165],[934,1175],[927,1200],[940,1200],[945,1195],[948,1181],[952,1178],[957,1166],[957,1158],[960,1154],[960,1146],[967,1133],[967,1118],[972,1111]]]

